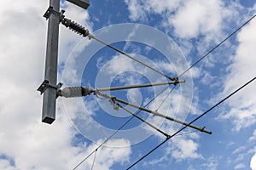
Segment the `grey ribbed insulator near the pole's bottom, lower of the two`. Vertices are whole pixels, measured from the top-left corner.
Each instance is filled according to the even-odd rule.
[[[68,87],[61,90],[61,96],[66,98],[82,97],[90,93],[90,89],[84,87]]]

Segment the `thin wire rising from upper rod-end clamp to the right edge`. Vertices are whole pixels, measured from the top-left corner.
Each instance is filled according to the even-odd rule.
[[[201,57],[201,59],[197,60],[193,65],[191,65],[187,70],[183,71],[183,73],[179,76],[182,77],[187,71],[189,71],[192,67],[194,67],[195,65],[197,65],[202,59],[205,59],[207,57],[208,54],[211,54],[216,48],[218,48],[221,44],[223,44],[227,39],[229,39],[230,37],[232,37],[234,34],[236,34],[237,31],[241,30],[241,28],[243,26],[246,26],[251,20],[253,20],[253,18],[256,16],[253,15],[252,18],[250,18],[249,20],[247,20],[245,23],[243,23],[240,27],[238,27],[236,29],[236,31],[233,31],[228,37],[225,37],[224,40],[222,42],[219,42],[218,45],[216,45],[214,48],[212,48],[207,54],[203,55]]]

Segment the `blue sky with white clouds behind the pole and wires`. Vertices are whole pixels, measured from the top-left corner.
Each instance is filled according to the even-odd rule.
[[[37,88],[44,81],[43,15],[48,7],[49,1],[32,0],[0,5],[0,169],[73,169],[87,156],[76,169],[126,169],[166,137],[131,119],[104,96],[59,97],[55,122],[41,122],[43,96]],[[256,19],[183,74],[256,14],[254,0],[91,0],[87,10],[61,0],[61,9],[95,37],[186,81],[102,93],[183,122],[191,122],[256,76]],[[58,50],[58,82],[63,88],[170,81],[61,25]],[[212,134],[187,127],[131,169],[256,170],[255,90],[254,81],[193,123]],[[169,135],[183,127],[122,106]]]

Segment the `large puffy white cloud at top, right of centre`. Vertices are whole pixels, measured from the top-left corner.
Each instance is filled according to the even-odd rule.
[[[136,14],[138,10],[143,10],[141,15],[137,14],[137,20],[143,20],[143,18],[147,18],[151,14],[159,14],[161,20],[150,24],[155,24],[155,27],[160,29],[164,28],[169,35],[175,38],[175,41],[186,55],[191,50],[196,50],[196,53],[200,56],[206,54],[210,48],[223,40],[228,33],[234,31],[236,26],[247,20],[244,19],[242,14],[249,13],[248,11],[251,10],[244,8],[240,3],[224,3],[221,0],[203,2],[200,0],[163,0],[160,2],[154,1],[154,3],[151,0],[126,0],[125,2],[127,5],[129,5],[129,2],[140,4],[130,10],[131,15]],[[139,16],[142,17],[140,18]],[[214,58],[208,56],[207,59],[204,59],[203,64],[205,67],[220,62],[224,54],[230,56],[230,54],[226,54],[226,51],[229,51],[227,49],[231,48],[230,43],[227,41],[224,46],[226,46],[225,53],[219,52]],[[194,57],[196,57],[195,54],[193,54]],[[191,61],[193,58],[191,58]],[[227,58],[225,57],[222,62],[228,62],[229,59]]]

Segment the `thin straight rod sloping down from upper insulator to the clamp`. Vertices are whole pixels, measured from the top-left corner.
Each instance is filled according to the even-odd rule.
[[[118,48],[113,47],[112,45],[108,44],[107,42],[103,42],[102,40],[100,40],[100,39],[98,39],[98,38],[96,38],[96,37],[94,37],[94,36],[92,36],[92,35],[90,35],[89,37],[95,39],[97,42],[101,42],[102,44],[108,46],[108,48],[112,48],[113,50],[119,52],[120,54],[124,54],[126,57],[135,60],[137,63],[139,63],[139,64],[141,64],[141,65],[144,65],[145,67],[148,67],[148,69],[151,69],[152,71],[155,71],[155,72],[159,73],[160,75],[162,75],[162,76],[164,76],[164,77],[166,77],[166,78],[168,78],[168,79],[170,79],[170,80],[172,80],[172,81],[175,80],[175,78],[169,77],[169,76],[167,76],[165,73],[163,73],[163,72],[161,72],[161,71],[158,71],[158,70],[154,69],[153,67],[151,67],[151,66],[149,66],[149,65],[146,65],[146,64],[143,63],[142,61],[140,61],[140,60],[138,60],[138,59],[135,59],[134,57],[131,57],[131,55],[126,54],[125,52],[119,50]]]

